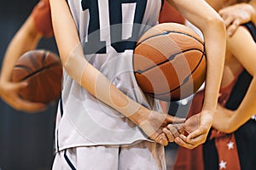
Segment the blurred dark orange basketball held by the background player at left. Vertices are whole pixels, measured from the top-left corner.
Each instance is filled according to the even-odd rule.
[[[20,89],[22,99],[50,103],[61,94],[62,66],[57,54],[44,49],[26,52],[15,63],[13,82],[28,82]]]

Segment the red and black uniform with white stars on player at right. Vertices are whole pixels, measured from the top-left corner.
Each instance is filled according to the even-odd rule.
[[[244,26],[250,31],[256,42],[256,31],[253,23],[249,22]],[[241,68],[237,72],[235,79],[229,86],[221,88],[218,103],[225,108],[235,111],[241,104],[247,93],[253,77]],[[189,111],[189,116],[193,116],[201,111],[204,92],[195,94],[193,107]],[[248,120],[234,133],[219,133],[212,128],[208,134],[207,141],[199,145],[194,150],[179,147],[177,151],[174,170],[217,170],[236,169],[247,170],[256,169],[256,121]]]

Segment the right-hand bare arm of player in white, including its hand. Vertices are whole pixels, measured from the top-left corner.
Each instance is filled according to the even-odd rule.
[[[207,54],[207,78],[205,100],[200,113],[200,126],[188,137],[180,135],[177,144],[193,148],[207,139],[212,126],[213,113],[217,107],[218,90],[224,69],[226,32],[224,22],[218,13],[206,2],[200,0],[168,0],[204,36]],[[191,146],[192,145],[192,146]]]

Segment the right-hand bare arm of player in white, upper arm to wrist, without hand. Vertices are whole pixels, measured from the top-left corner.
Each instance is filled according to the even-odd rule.
[[[207,3],[201,1],[168,0],[193,25],[198,27],[205,39],[207,54],[206,96],[203,110],[215,110],[218,90],[224,68],[226,31],[224,21]],[[192,3],[193,2],[193,3]],[[199,12],[200,11],[200,12]]]

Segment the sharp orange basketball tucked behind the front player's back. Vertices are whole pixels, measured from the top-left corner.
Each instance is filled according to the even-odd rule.
[[[187,26],[159,24],[139,38],[133,69],[144,94],[164,101],[187,98],[205,81],[204,42]]]

